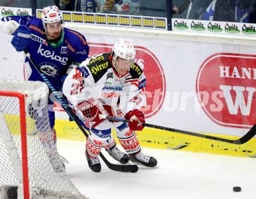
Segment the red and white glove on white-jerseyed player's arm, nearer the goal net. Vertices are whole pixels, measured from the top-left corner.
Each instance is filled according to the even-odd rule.
[[[101,111],[98,108],[98,100],[90,99],[77,104],[76,108],[83,113],[84,121],[94,122],[93,126],[99,124],[104,119],[99,118]]]

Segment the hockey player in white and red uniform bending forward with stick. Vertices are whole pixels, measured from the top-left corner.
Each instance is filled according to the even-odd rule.
[[[88,57],[74,68],[63,84],[63,93],[76,115],[90,131],[86,143],[88,165],[94,172],[101,171],[98,155],[105,147],[110,153],[115,146],[111,129],[132,162],[146,167],[155,167],[154,157],[141,153],[135,131],[144,128],[144,114],[140,107],[145,105],[145,76],[134,63],[136,51],[129,39],[118,39],[112,52]],[[113,122],[99,118],[106,114],[126,118],[126,122]]]

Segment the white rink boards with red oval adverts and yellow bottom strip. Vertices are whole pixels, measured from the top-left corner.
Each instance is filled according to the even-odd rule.
[[[85,35],[90,55],[110,52],[119,37],[131,39],[136,63],[147,78],[144,113],[148,123],[227,139],[243,136],[256,123],[255,37],[65,26]],[[1,65],[8,68],[1,71],[1,78],[23,79],[23,53],[15,52],[10,36],[2,32],[0,36],[5,41],[0,49]],[[57,118],[63,119],[58,114]],[[85,140],[67,118],[56,121],[56,130],[59,138]],[[254,140],[239,146],[156,129],[145,129],[138,136],[142,146],[157,149],[179,146],[184,151],[256,154]]]

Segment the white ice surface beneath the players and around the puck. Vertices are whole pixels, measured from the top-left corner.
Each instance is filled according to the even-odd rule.
[[[91,199],[256,197],[253,158],[144,148],[145,154],[157,158],[159,168],[140,167],[137,173],[122,173],[111,171],[101,160],[102,171],[94,173],[88,168],[84,149],[83,142],[58,140],[59,153],[70,162],[66,165],[69,178]],[[242,191],[233,192],[234,186]]]

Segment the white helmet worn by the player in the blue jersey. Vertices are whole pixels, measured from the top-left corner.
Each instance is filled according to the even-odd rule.
[[[42,19],[42,26],[44,26],[45,31],[46,31],[46,24],[55,23],[58,21],[61,21],[61,23],[64,24],[62,12],[55,5],[47,6],[44,9],[42,9],[41,19]]]

